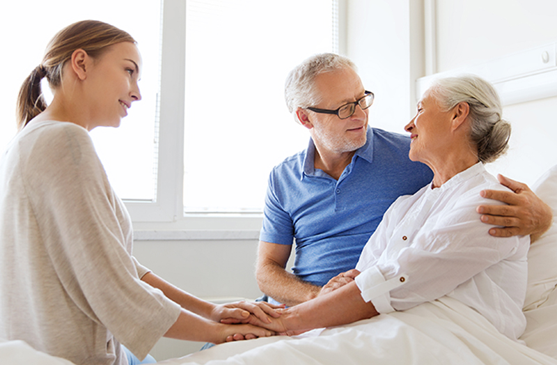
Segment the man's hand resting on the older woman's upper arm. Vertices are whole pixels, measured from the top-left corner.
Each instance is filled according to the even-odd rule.
[[[530,235],[534,242],[545,233],[553,222],[553,212],[532,190],[523,183],[518,183],[505,176],[498,175],[499,183],[505,185],[512,192],[499,190],[483,190],[480,195],[487,199],[494,199],[508,205],[480,205],[477,212],[480,219],[487,224],[503,226],[491,228],[489,234],[496,237],[510,237],[512,235]]]

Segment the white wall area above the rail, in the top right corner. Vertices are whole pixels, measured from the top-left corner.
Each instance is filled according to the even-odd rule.
[[[438,72],[557,40],[554,0],[437,0]]]

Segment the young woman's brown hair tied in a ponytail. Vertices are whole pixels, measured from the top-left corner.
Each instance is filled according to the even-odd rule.
[[[76,49],[93,58],[119,42],[136,41],[127,32],[96,20],[84,20],[59,31],[47,45],[45,57],[25,79],[17,96],[17,127],[21,130],[47,107],[40,81],[46,77],[51,88],[61,85],[62,69]]]

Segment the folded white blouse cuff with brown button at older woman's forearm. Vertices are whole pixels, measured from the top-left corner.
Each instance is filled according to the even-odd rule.
[[[363,270],[355,279],[356,286],[361,291],[361,297],[366,302],[371,302],[378,313],[391,313],[395,311],[391,306],[389,292],[402,286],[408,280],[406,274],[399,274],[392,279],[385,280],[377,266]]]

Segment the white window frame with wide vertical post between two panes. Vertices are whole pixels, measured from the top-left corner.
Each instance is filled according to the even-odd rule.
[[[346,0],[336,1],[338,48],[345,52]],[[262,213],[185,213],[183,201],[185,129],[185,0],[162,3],[161,79],[157,192],[154,201],[124,200],[134,226],[140,229],[259,229]]]

